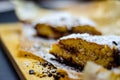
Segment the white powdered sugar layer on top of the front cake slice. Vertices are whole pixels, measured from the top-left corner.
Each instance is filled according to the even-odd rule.
[[[120,36],[116,35],[102,35],[102,36],[95,36],[95,35],[89,35],[87,33],[85,34],[71,34],[68,36],[64,36],[60,38],[60,40],[63,39],[70,39],[70,38],[81,38],[83,40],[86,40],[88,42],[93,42],[101,45],[108,45],[111,48],[116,46],[120,50]]]

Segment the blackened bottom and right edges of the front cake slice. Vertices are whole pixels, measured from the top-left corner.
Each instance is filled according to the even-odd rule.
[[[120,66],[120,51],[115,51],[114,52],[114,59],[115,59],[115,65],[113,65],[112,67],[111,66],[108,66],[107,69],[111,69],[111,68],[116,68],[116,67],[119,67]],[[69,60],[65,60],[63,59],[62,57],[58,57],[57,55],[54,55],[56,58],[51,58],[51,60],[53,61],[57,61],[61,64],[64,64],[66,66],[70,66],[72,70],[75,70],[77,72],[81,72],[83,71],[84,69],[84,66],[78,66],[76,64],[73,64],[71,63],[71,59]]]

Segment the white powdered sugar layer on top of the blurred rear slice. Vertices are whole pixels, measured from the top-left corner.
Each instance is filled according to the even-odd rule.
[[[75,26],[96,25],[92,20],[88,18],[85,17],[77,18],[77,17],[73,17],[71,14],[63,13],[63,12],[47,15],[37,20],[34,23],[34,25],[38,23],[48,24],[51,25],[52,27],[66,26],[68,29]]]

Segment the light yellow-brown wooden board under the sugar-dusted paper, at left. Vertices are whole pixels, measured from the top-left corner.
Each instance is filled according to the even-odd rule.
[[[30,75],[29,70],[36,70],[41,72],[43,66],[37,66],[38,61],[44,61],[42,58],[36,56],[22,56],[24,52],[19,51],[20,34],[22,24],[10,23],[0,24],[0,39],[2,47],[6,51],[9,60],[12,62],[21,80],[54,80],[53,77],[41,77],[42,75]],[[28,66],[29,64],[29,66]],[[68,80],[68,77],[61,78],[60,80]]]

